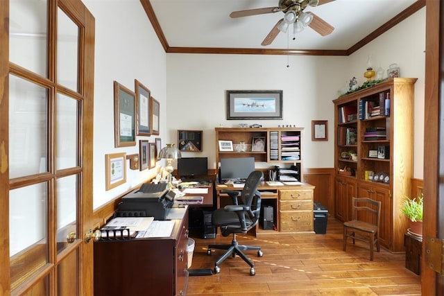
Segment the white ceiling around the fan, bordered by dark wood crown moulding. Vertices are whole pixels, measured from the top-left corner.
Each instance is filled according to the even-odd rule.
[[[293,30],[262,46],[283,12],[232,19],[230,12],[278,6],[278,0],[150,0],[171,47],[229,49],[346,50],[411,6],[416,0],[336,0],[307,7],[334,26],[325,37],[307,27],[293,39]]]

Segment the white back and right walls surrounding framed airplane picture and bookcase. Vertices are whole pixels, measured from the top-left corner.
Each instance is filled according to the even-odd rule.
[[[419,25],[418,25],[419,24]],[[167,55],[168,133],[178,129],[203,130],[203,152],[186,156],[209,157],[215,167],[214,128],[237,126],[227,121],[225,90],[282,89],[282,121],[246,121],[265,127],[296,125],[305,128],[302,157],[305,168],[334,166],[334,108],[332,100],[345,82],[356,76],[364,82],[369,54],[375,69],[397,62],[403,77],[416,77],[415,172],[422,178],[424,122],[425,8],[348,57],[280,55]],[[386,71],[385,71],[386,76]],[[311,120],[328,120],[329,141],[311,141]],[[177,141],[177,140],[176,140]],[[304,152],[305,151],[305,152]]]

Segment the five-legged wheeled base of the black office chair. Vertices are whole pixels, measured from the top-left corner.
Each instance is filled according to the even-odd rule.
[[[257,251],[257,256],[259,257],[264,256],[261,247],[254,245],[239,245],[239,243],[236,241],[235,238],[232,240],[231,245],[208,245],[207,254],[210,255],[212,249],[227,250],[225,253],[223,253],[222,256],[219,257],[219,259],[217,259],[216,263],[214,263],[215,273],[221,272],[221,268],[219,268],[219,265],[230,255],[233,257],[239,255],[241,259],[243,259],[248,265],[250,265],[250,275],[255,275],[255,264],[253,263],[253,261],[248,259],[248,257],[246,256],[246,254],[244,254],[243,251],[255,250]]]

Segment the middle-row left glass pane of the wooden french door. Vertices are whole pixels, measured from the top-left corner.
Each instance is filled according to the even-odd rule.
[[[10,178],[48,172],[49,90],[9,76]]]

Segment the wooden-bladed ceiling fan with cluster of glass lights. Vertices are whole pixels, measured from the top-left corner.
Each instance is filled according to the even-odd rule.
[[[230,13],[230,17],[248,17],[250,15],[264,15],[278,11],[284,12],[284,17],[275,24],[270,33],[266,35],[264,41],[262,41],[261,45],[266,46],[271,44],[280,32],[287,33],[291,24],[293,24],[293,33],[295,35],[303,31],[306,26],[309,26],[322,36],[332,33],[334,30],[333,26],[313,12],[304,12],[307,6],[315,7],[331,1],[334,0],[279,0],[278,7],[234,11]]]

